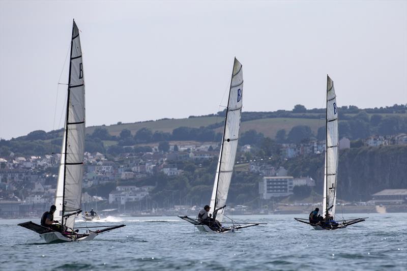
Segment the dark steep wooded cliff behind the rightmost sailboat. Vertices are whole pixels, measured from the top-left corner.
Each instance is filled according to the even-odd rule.
[[[297,157],[282,163],[288,175],[310,176],[316,191],[323,194],[324,155]],[[343,149],[339,153],[338,198],[369,200],[384,189],[407,186],[407,146],[381,146]]]

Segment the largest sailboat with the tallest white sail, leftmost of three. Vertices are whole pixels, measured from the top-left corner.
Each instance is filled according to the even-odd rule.
[[[106,226],[99,230],[78,233],[75,217],[81,210],[83,153],[85,139],[85,84],[79,29],[73,21],[69,64],[67,109],[62,141],[61,163],[56,185],[54,220],[61,230],[44,227],[31,221],[18,224],[33,230],[47,242],[92,240],[96,235],[125,225]],[[86,227],[84,227],[86,228]]]

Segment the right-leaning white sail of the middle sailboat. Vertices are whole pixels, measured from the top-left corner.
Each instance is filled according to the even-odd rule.
[[[232,78],[230,82],[229,99],[227,103],[225,127],[220,147],[218,166],[211,197],[211,211],[223,207],[229,191],[230,179],[235,165],[236,150],[238,148],[240,118],[242,114],[243,97],[243,69],[242,64],[235,58]],[[222,222],[223,209],[219,211],[216,220]]]

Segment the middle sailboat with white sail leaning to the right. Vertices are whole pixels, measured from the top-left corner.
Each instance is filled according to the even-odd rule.
[[[234,61],[232,76],[229,88],[229,98],[226,108],[225,126],[220,147],[218,165],[215,174],[215,181],[210,202],[211,220],[202,222],[188,216],[178,216],[179,218],[193,224],[199,231],[210,233],[230,233],[238,229],[259,225],[260,223],[237,223],[223,222],[225,217],[224,209],[227,193],[229,191],[230,179],[233,173],[236,151],[238,148],[240,118],[242,115],[243,98],[243,69],[242,64],[236,59]],[[231,224],[223,227],[221,224]],[[247,225],[241,225],[247,224]]]

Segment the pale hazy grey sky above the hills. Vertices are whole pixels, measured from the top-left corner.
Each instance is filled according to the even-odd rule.
[[[63,127],[72,19],[86,126],[223,110],[407,103],[407,1],[0,1],[0,138]],[[59,84],[61,83],[61,84]]]

